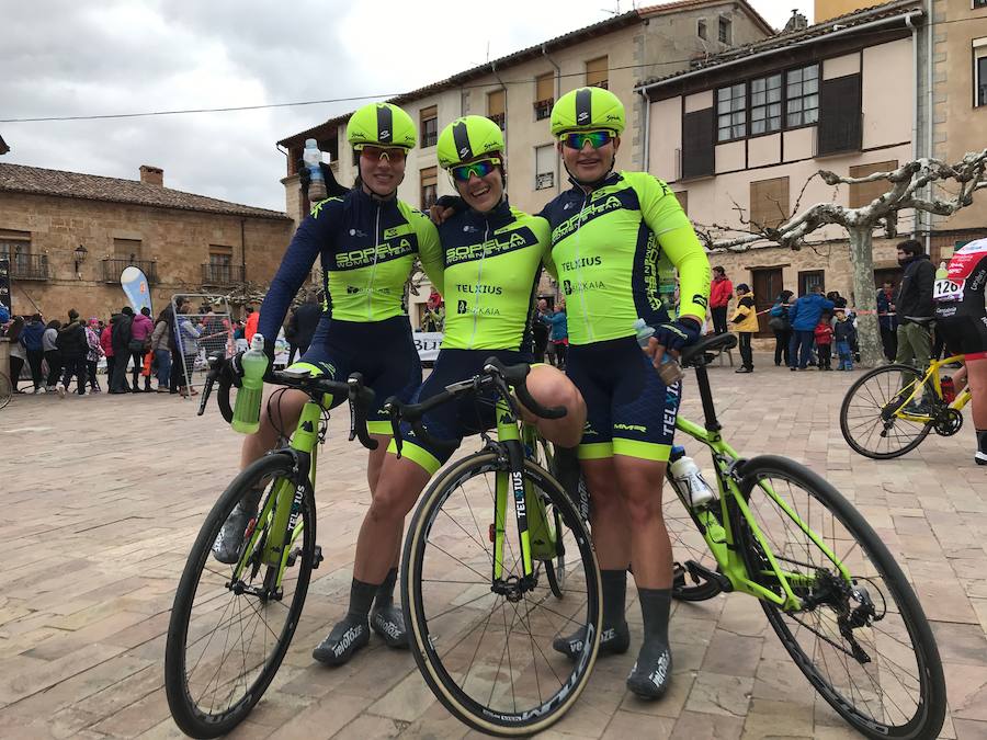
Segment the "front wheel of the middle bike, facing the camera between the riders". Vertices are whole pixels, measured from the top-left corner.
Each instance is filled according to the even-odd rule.
[[[530,460],[527,485],[558,512],[565,551],[565,599],[552,595],[544,562],[522,589],[513,508],[502,554],[506,589],[495,591],[496,476],[509,468],[492,452],[460,460],[421,500],[402,558],[405,623],[418,668],[455,717],[491,735],[526,736],[551,726],[579,697],[597,658],[600,578],[589,534],[558,483]],[[557,571],[556,571],[557,572]],[[575,661],[554,638],[586,629]]]

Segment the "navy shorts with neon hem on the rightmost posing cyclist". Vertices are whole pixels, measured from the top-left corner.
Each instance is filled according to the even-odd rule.
[[[566,375],[586,401],[580,459],[668,460],[682,384],[666,386],[636,338],[570,344]]]

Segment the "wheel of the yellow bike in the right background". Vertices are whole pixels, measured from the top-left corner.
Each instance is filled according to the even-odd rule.
[[[921,384],[922,374],[910,365],[876,367],[860,377],[840,406],[840,431],[847,444],[854,452],[878,460],[918,447],[932,430],[932,420],[920,423],[896,413]],[[926,389],[927,399],[934,395],[931,388]],[[921,390],[915,396],[918,400]]]

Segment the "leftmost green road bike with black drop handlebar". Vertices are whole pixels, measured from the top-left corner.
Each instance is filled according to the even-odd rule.
[[[229,379],[220,356],[209,360],[198,413],[220,379],[219,409],[232,420]],[[260,701],[287,652],[311,571],[322,560],[316,544],[315,482],[332,397],[350,405],[350,440],[367,448],[374,394],[359,374],[345,383],[311,377],[307,369],[273,373],[269,383],[308,395],[298,423],[279,449],[247,466],[206,516],[182,572],[164,648],[164,688],[175,724],[196,738],[215,738],[241,722]],[[280,400],[275,390],[269,410]],[[273,417],[272,417],[273,418]],[[283,439],[288,435],[281,430]],[[213,543],[234,506],[262,491],[236,563],[212,558]]]

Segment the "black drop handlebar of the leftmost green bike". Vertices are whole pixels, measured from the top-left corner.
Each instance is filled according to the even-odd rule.
[[[205,413],[206,403],[216,382],[219,383],[219,389],[216,395],[216,401],[219,406],[219,413],[223,414],[227,424],[232,422],[232,407],[229,402],[229,389],[234,385],[232,373],[224,372],[226,368],[226,357],[222,353],[209,355],[209,373],[206,376],[205,386],[203,387],[202,400],[198,403],[198,415]],[[265,383],[277,385],[285,388],[295,388],[308,394],[309,397],[321,397],[325,394],[332,396],[345,397],[350,402],[350,436],[360,440],[367,449],[376,449],[377,441],[370,435],[366,428],[366,410],[374,403],[375,395],[373,388],[363,385],[363,376],[360,373],[353,373],[344,383],[339,380],[330,380],[329,378],[311,377],[307,372],[303,374],[286,373],[284,371],[273,372],[270,377],[264,379]]]

